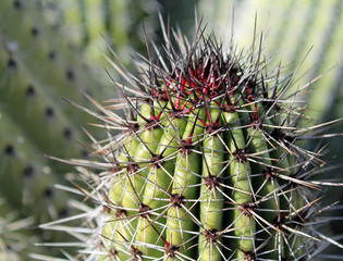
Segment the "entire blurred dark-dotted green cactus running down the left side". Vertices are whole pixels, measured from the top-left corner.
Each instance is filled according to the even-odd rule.
[[[77,121],[89,116],[61,97],[85,104],[82,91],[106,94],[96,91],[100,84],[83,64],[82,52],[61,37],[45,12],[39,1],[0,1],[0,191],[9,209],[0,219],[11,229],[11,213],[32,224],[9,231],[12,239],[3,239],[8,246],[1,246],[1,260],[14,260],[14,252],[20,260],[28,260],[28,252],[57,253],[33,244],[70,240],[62,233],[33,229],[70,213],[68,194],[54,187],[64,183],[70,167],[51,164],[42,153],[85,154],[82,146],[71,144],[82,142]]]

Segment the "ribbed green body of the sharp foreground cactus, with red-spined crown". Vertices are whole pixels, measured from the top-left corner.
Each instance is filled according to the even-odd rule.
[[[255,72],[243,76],[234,59],[212,58],[213,50],[205,45],[201,57],[189,54],[193,62],[150,87],[154,103],[142,104],[139,127],[126,138],[134,145],[118,149],[128,171],[114,174],[109,208],[122,219],[106,225],[105,237],[122,259],[250,260],[261,238],[275,244],[273,223],[291,211],[281,210],[283,188],[265,177],[278,169],[269,152],[273,128],[259,124],[274,121],[264,114],[268,94],[250,83]],[[264,251],[277,258],[273,244]]]

